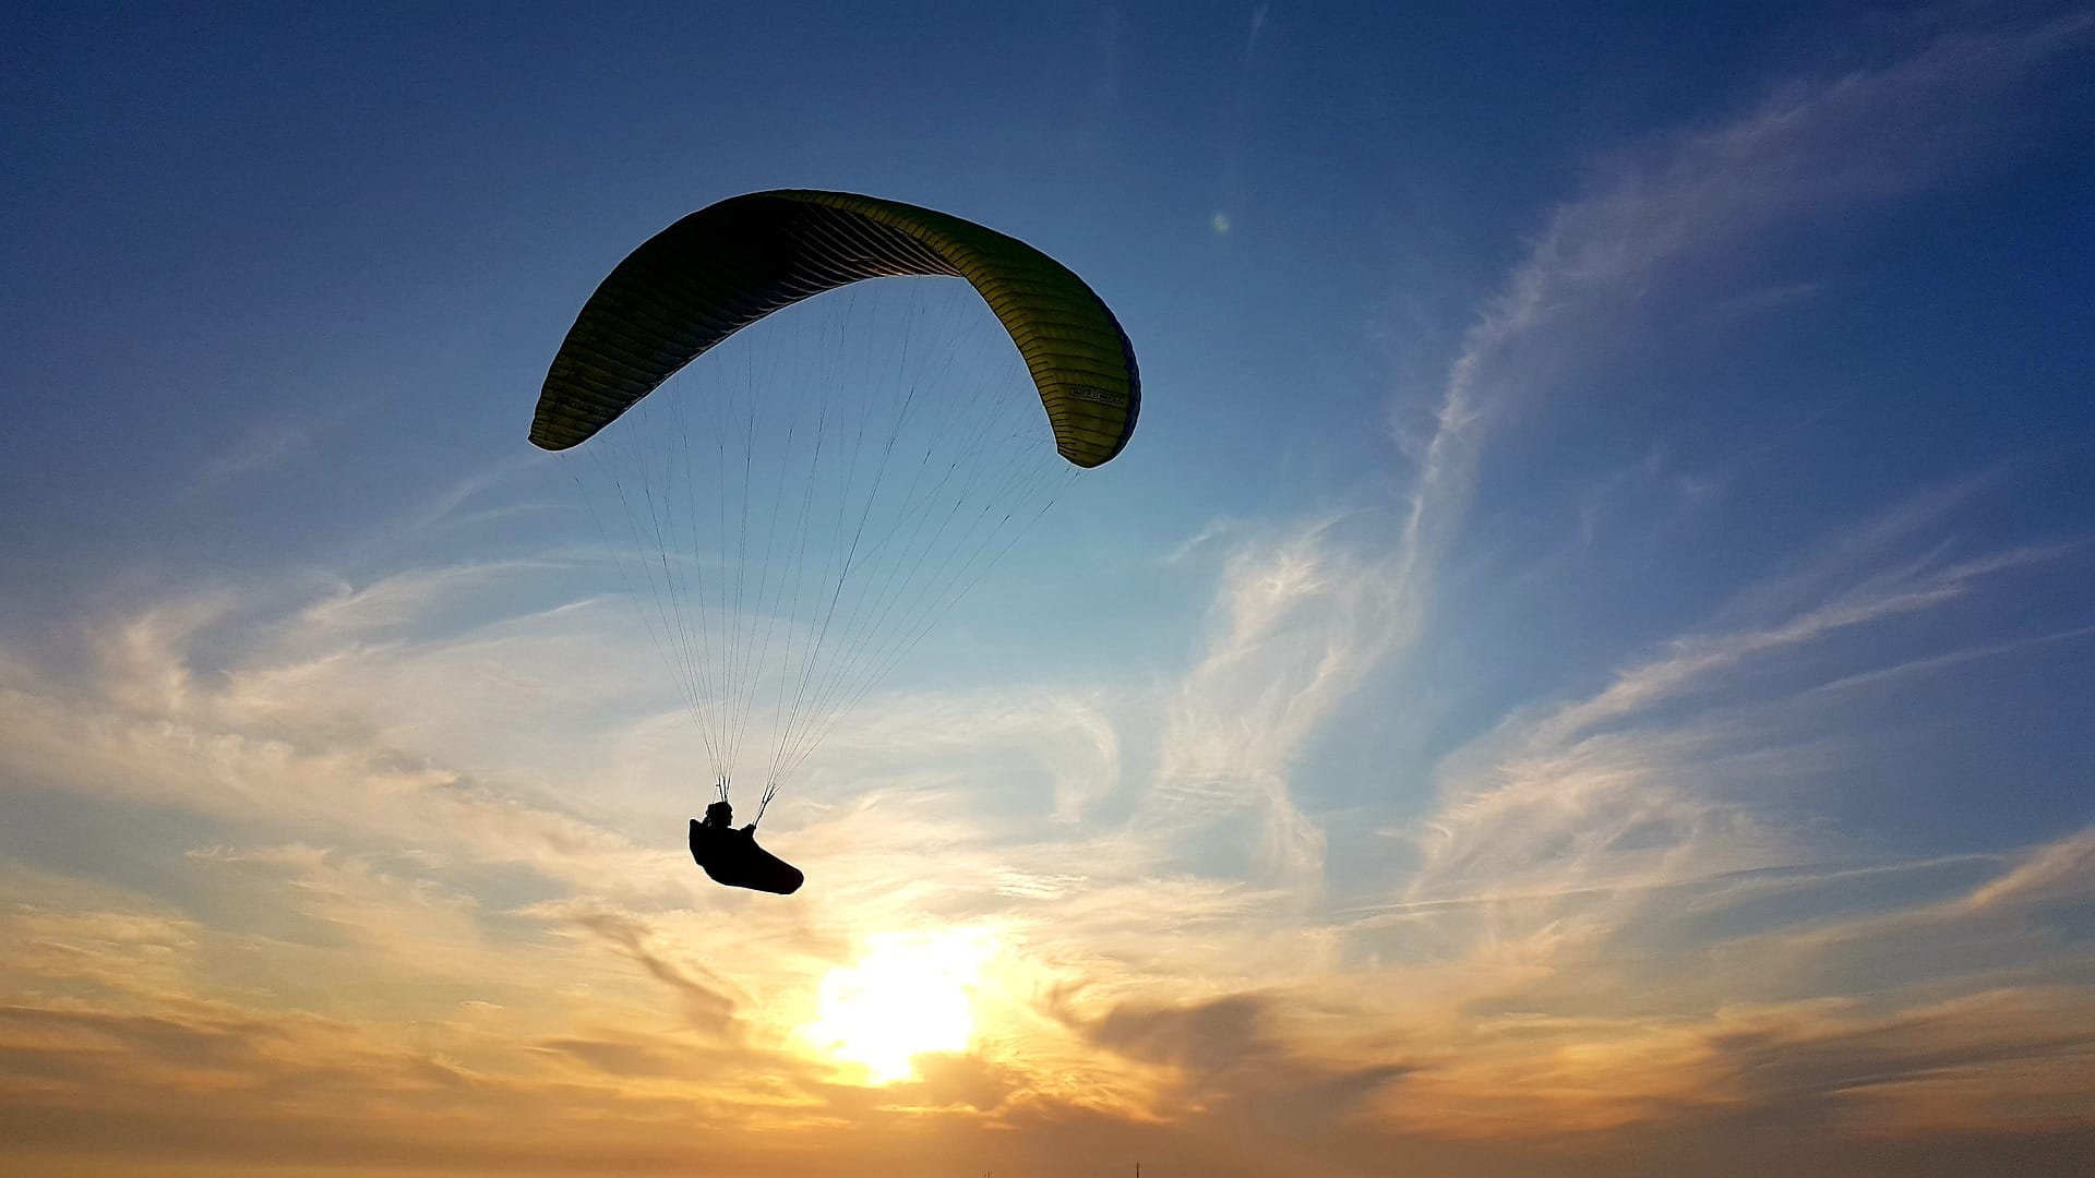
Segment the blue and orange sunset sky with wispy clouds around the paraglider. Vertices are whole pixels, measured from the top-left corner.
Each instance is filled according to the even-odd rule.
[[[2095,1151],[2095,8],[17,4],[0,128],[8,1172]],[[792,897],[526,442],[777,187],[1144,388]]]

